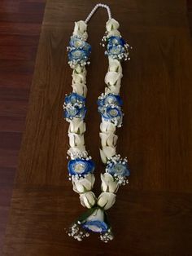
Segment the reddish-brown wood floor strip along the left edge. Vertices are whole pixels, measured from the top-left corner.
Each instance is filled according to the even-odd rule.
[[[44,7],[44,0],[0,1],[0,255]]]

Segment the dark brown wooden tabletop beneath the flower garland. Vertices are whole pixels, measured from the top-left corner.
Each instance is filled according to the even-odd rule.
[[[66,46],[73,22],[84,20],[95,3],[46,2],[3,255],[190,256],[192,48],[185,1],[106,2],[133,46],[132,59],[123,66],[125,116],[118,141],[132,174],[108,211],[114,241],[106,245],[92,235],[79,243],[65,233],[84,211],[67,179],[68,123],[62,104],[71,91],[72,70]],[[107,13],[99,10],[89,23],[93,52],[85,142],[97,163],[97,178],[104,169],[96,100],[107,72],[99,46],[106,20]],[[98,194],[100,179],[96,183]]]

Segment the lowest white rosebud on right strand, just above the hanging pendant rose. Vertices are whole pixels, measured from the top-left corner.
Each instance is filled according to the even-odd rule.
[[[97,204],[100,207],[103,207],[104,210],[108,210],[115,204],[116,195],[111,192],[102,192],[100,196],[98,196]]]

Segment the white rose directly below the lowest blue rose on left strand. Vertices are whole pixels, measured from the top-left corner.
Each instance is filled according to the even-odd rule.
[[[73,190],[77,193],[90,191],[94,186],[94,174],[87,174],[85,178],[76,179],[72,176]]]

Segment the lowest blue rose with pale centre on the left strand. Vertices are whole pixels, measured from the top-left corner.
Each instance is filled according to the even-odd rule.
[[[94,161],[76,158],[68,161],[68,172],[71,175],[85,175],[94,171]]]

